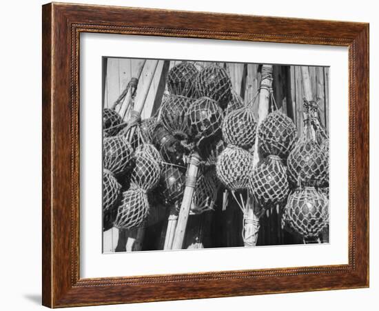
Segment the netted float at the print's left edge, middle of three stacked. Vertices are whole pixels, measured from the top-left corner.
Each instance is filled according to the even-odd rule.
[[[132,154],[132,146],[123,137],[105,137],[103,140],[103,168],[113,174],[121,174],[127,170]]]

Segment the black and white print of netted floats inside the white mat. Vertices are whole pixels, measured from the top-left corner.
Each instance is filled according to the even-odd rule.
[[[329,67],[102,62],[103,253],[329,243]]]

